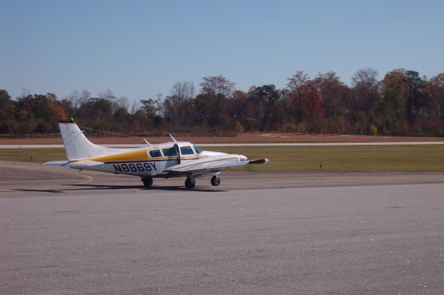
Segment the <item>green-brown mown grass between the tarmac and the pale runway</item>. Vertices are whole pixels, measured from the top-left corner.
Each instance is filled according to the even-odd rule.
[[[244,154],[249,159],[270,159],[266,165],[232,168],[237,171],[444,172],[444,145],[212,147],[211,150]],[[44,163],[64,159],[65,150],[60,148],[0,150],[2,161]]]

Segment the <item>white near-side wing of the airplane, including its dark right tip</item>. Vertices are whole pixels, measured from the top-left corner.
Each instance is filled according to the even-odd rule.
[[[224,168],[267,162],[268,159],[241,160],[238,155],[223,155],[171,166],[167,170],[164,170],[164,172],[171,175],[189,175],[205,172],[218,172]]]

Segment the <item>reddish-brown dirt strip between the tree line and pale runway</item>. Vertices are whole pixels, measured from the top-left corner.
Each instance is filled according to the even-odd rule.
[[[323,135],[323,134],[284,134],[284,133],[245,133],[234,137],[211,136],[175,136],[178,141],[193,143],[383,143],[401,141],[443,141],[443,137],[413,137],[413,136],[368,136],[368,135]],[[171,141],[167,136],[146,138],[150,143]],[[140,143],[142,138],[132,137],[89,137],[93,143]],[[51,145],[62,144],[57,138],[1,138],[0,145]]]

